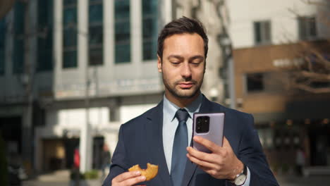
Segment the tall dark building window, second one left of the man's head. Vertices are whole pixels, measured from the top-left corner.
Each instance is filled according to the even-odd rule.
[[[115,63],[130,62],[130,0],[115,0]]]

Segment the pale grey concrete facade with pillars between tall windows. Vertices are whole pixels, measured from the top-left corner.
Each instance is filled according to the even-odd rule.
[[[63,69],[62,64],[62,14],[61,1],[55,1],[55,56],[56,68],[54,91],[56,99],[85,96],[87,76],[91,80],[90,94],[116,96],[161,92],[161,76],[157,71],[157,61],[142,61],[142,1],[130,2],[131,61],[116,64],[114,61],[114,0],[104,1],[104,64],[89,67],[86,71],[87,37],[78,35],[78,68]],[[78,1],[78,29],[87,30],[87,4]],[[154,54],[156,55],[156,54]],[[87,74],[86,74],[87,72]]]

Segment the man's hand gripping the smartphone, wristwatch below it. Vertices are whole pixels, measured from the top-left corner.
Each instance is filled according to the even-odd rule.
[[[224,137],[223,147],[199,136],[195,136],[193,140],[212,151],[209,154],[187,147],[188,159],[209,175],[217,179],[233,180],[243,171],[243,163],[234,154],[226,137]]]

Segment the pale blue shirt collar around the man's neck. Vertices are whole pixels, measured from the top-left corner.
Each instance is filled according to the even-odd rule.
[[[176,116],[176,111],[178,109],[181,109],[180,107],[176,106],[176,104],[173,104],[169,99],[165,97],[164,94],[164,113],[171,118],[171,121],[175,118]],[[183,109],[187,110],[189,113],[190,118],[193,118],[193,113],[196,113],[200,111],[200,106],[202,104],[202,93],[198,95],[197,99],[195,99],[193,102],[191,102],[188,106],[185,106]]]

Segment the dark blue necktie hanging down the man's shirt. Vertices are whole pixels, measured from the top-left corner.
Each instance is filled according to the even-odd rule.
[[[178,109],[176,111],[176,118],[178,118],[179,124],[176,128],[176,135],[174,136],[172,162],[171,162],[171,178],[173,186],[181,186],[183,180],[183,173],[185,172],[185,162],[187,161],[188,147],[188,131],[187,131],[187,119],[188,112],[185,109]]]

